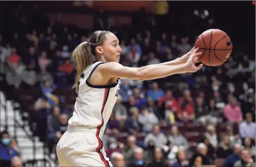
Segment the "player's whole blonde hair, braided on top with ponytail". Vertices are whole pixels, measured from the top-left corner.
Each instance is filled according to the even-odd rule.
[[[77,77],[73,88],[78,93],[79,80],[84,70],[87,70],[97,59],[96,47],[103,45],[106,41],[106,35],[110,31],[95,31],[91,35],[89,42],[79,44],[72,53],[72,59],[77,66]]]

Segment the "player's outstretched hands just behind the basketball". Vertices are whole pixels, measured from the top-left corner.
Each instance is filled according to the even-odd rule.
[[[188,58],[188,60],[186,62],[186,72],[187,73],[197,72],[203,66],[203,64],[200,64],[198,66],[195,65],[195,62],[197,62],[197,60],[198,60],[198,56],[202,55],[202,52],[197,53],[198,49],[199,48],[194,49],[194,51],[192,52],[192,54],[190,55],[190,57]]]

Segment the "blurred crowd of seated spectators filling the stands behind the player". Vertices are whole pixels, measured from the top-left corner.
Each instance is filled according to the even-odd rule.
[[[156,23],[163,19],[161,14]],[[104,26],[106,20],[97,21],[96,27],[109,27]],[[132,29],[132,34],[113,30],[123,49],[120,63],[140,67],[171,61],[193,47],[197,36],[176,36],[164,29],[159,34],[156,23],[150,20],[147,28]],[[68,97],[56,92],[73,85],[76,68],[71,53],[88,41],[89,35],[68,26],[47,26],[13,32],[10,40],[1,39],[1,75],[6,85],[39,88],[34,92],[38,98],[33,102],[31,126],[50,153],[55,153],[73,111],[73,104],[66,103]],[[238,51],[223,65],[204,65],[197,73],[149,81],[122,79],[103,136],[107,157],[114,166],[129,167],[253,166],[255,62],[249,57],[253,56]],[[222,130],[217,129],[220,125]],[[19,156],[11,141],[8,132],[1,133],[2,162],[4,152],[9,153],[6,160]]]

